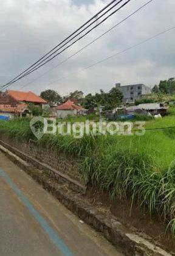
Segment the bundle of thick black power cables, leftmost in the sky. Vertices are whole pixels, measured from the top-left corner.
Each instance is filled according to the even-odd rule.
[[[117,1],[117,0],[115,0]],[[112,3],[114,3],[115,1],[112,1],[109,5],[111,5]],[[108,13],[110,10],[112,10],[116,5],[120,4],[120,2],[122,2],[123,0],[118,1],[117,3],[115,3],[109,10],[107,10],[105,13],[103,13],[101,16],[99,16],[97,19],[100,19],[101,17],[103,17],[104,15],[106,15],[106,13]],[[115,10],[114,12],[112,12],[110,15],[108,15],[104,20],[102,20],[100,23],[98,23],[96,26],[92,27],[92,29],[90,29],[88,32],[86,32],[86,34],[84,34],[82,37],[78,38],[78,40],[80,40],[81,38],[85,37],[87,34],[89,34],[92,30],[94,30],[96,27],[100,26],[101,23],[103,23],[104,21],[106,21],[110,16],[114,15],[114,13],[116,13],[118,10],[122,9],[122,7],[124,7],[126,4],[128,4],[128,2],[131,0],[128,0],[127,2],[125,2],[125,4],[123,4],[120,8],[118,8],[117,10]],[[108,5],[107,5],[108,6]],[[104,9],[104,8],[103,8]],[[102,9],[102,10],[103,10]],[[105,7],[106,9],[106,7]],[[101,13],[98,12],[98,13]],[[96,17],[97,15],[95,15]],[[96,19],[96,20],[97,20]],[[89,28],[92,24],[95,23],[95,21],[92,21],[91,24],[89,24],[88,26],[86,26],[83,30],[81,30],[81,32],[79,32],[77,35],[75,35],[73,38],[71,38],[69,41],[67,41],[65,44],[63,44],[63,46],[61,46],[59,49],[63,48],[67,43],[69,43],[70,41],[72,41],[75,37],[77,37],[78,35],[80,35],[82,32],[84,32],[84,30],[86,30],[87,28]],[[87,24],[87,23],[86,23]],[[82,26],[81,26],[82,27]],[[84,27],[84,25],[83,25]],[[80,30],[80,29],[78,29]],[[76,33],[73,33],[76,34]],[[70,38],[70,37],[69,37]],[[78,40],[74,41],[74,43],[76,43]],[[63,40],[60,44],[64,43]],[[65,51],[67,48],[69,48],[70,46],[72,46],[74,43],[71,43],[69,46],[67,46],[65,49],[63,49],[63,51]],[[60,44],[58,44],[58,46],[60,46]],[[55,48],[58,48],[58,46],[56,46]],[[53,48],[54,49],[54,48]],[[29,68],[27,68],[25,71],[23,71],[21,74],[19,74],[18,76],[15,77],[15,79],[11,80],[9,83],[2,85],[2,87],[6,86],[6,85],[10,85],[13,84],[14,82],[18,81],[19,79],[21,79],[24,76],[27,76],[28,74],[32,73],[33,71],[37,70],[38,68],[40,68],[41,66],[45,65],[47,62],[50,62],[50,60],[54,59],[55,57],[57,57],[59,54],[61,54],[63,51],[59,52],[58,54],[54,55],[52,58],[50,58],[49,60],[47,60],[46,62],[44,62],[46,59],[48,59],[51,55],[55,54],[55,52],[59,51],[59,49],[55,50],[54,52],[52,52],[52,54],[50,54],[49,56],[47,56],[45,59],[44,57],[42,57],[41,59],[39,59],[37,62],[35,62],[32,66],[30,66]],[[48,54],[46,54],[48,55]],[[45,55],[45,56],[46,56]],[[41,60],[41,61],[40,61]],[[44,63],[43,63],[44,62]],[[38,64],[37,64],[38,63]],[[40,65],[41,63],[43,63],[42,65]],[[38,66],[40,65],[40,66]],[[38,66],[38,68],[36,68],[36,66]],[[33,68],[32,68],[33,67]],[[32,68],[32,69],[31,69]],[[31,70],[30,70],[31,69]],[[25,73],[28,70],[27,73]],[[21,76],[22,74],[24,74],[23,76]],[[18,78],[19,77],[19,78]],[[18,78],[18,79],[17,79]]]

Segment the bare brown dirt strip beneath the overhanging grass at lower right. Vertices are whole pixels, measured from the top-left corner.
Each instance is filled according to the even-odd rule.
[[[103,212],[112,213],[123,225],[134,229],[142,236],[150,236],[152,241],[160,246],[163,244],[165,249],[175,255],[175,238],[169,230],[166,230],[166,224],[157,216],[150,216],[149,213],[131,202],[123,202],[116,199],[111,201],[109,193],[101,191],[98,188],[89,188],[86,194],[87,201],[97,205]],[[145,236],[146,237],[146,236]],[[149,237],[147,237],[149,238]]]

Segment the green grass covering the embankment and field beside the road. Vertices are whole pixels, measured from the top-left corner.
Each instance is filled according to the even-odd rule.
[[[109,191],[112,199],[129,197],[151,215],[161,215],[175,233],[175,129],[157,129],[175,126],[173,108],[170,113],[148,121],[146,129],[155,130],[147,130],[142,137],[44,135],[38,143],[78,156],[83,176],[94,186]],[[35,140],[29,119],[1,121],[0,132],[18,140]]]

